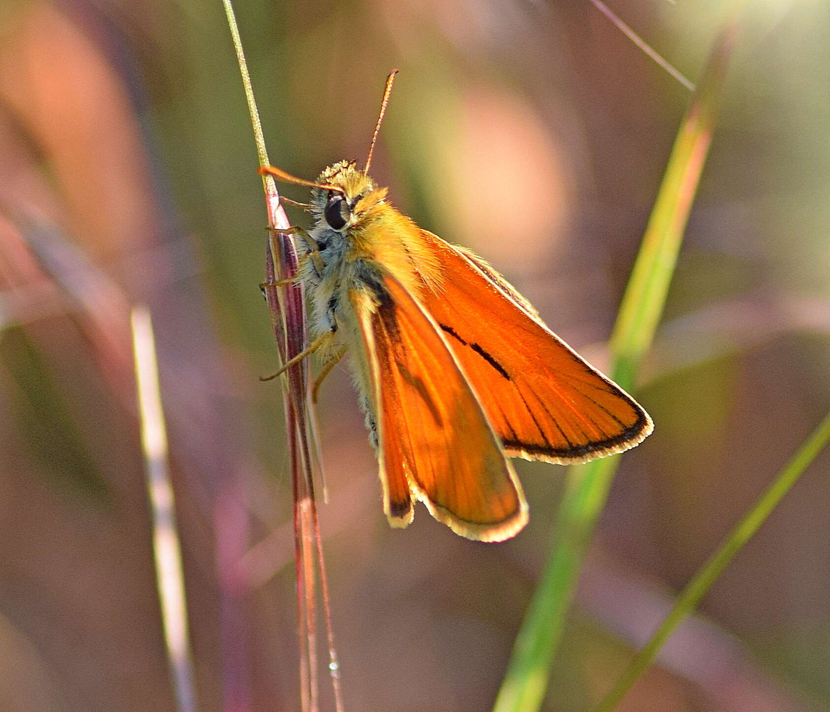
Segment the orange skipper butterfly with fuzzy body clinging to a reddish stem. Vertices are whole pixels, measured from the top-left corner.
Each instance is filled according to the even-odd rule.
[[[363,169],[261,169],[310,187],[315,219],[289,232],[316,339],[278,373],[323,349],[325,377],[348,351],[389,523],[405,527],[421,500],[457,534],[501,541],[528,519],[507,457],[587,462],[637,445],[652,421],[486,261],[417,227],[369,177],[394,75]]]

